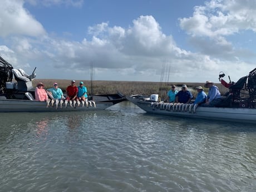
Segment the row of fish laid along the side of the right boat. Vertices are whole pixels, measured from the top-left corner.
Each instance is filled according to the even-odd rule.
[[[158,108],[166,111],[181,111],[181,112],[196,112],[198,104],[181,104],[181,103],[168,103],[168,102],[152,102],[153,109]]]

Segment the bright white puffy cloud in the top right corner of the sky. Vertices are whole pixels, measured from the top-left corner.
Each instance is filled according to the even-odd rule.
[[[254,0],[211,0],[195,7],[189,18],[180,18],[180,27],[192,36],[218,37],[256,29]]]

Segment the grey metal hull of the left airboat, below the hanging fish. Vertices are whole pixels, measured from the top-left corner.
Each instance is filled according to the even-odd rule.
[[[41,101],[0,99],[0,112],[96,111],[105,110],[112,105],[111,102],[96,102],[96,107],[93,105],[71,107],[69,104],[65,107],[65,104],[63,104],[62,108],[59,105],[56,109],[56,105],[46,107],[46,102]]]

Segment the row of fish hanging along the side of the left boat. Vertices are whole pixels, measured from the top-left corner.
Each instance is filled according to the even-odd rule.
[[[58,99],[48,99],[47,101],[46,101],[46,107],[53,107],[54,106],[54,104],[55,104],[55,106],[56,106],[56,109],[58,109],[58,105],[60,104],[60,108],[62,108],[62,104],[65,104],[65,107],[67,107],[67,104],[69,103],[70,104],[70,106],[71,107],[80,107],[81,105],[82,105],[82,107],[88,107],[88,106],[90,106],[90,107],[92,107],[92,105],[93,105],[93,107],[96,107],[96,104],[95,104],[95,102],[94,101],[76,101],[76,100],[74,100],[74,101],[68,101],[68,100],[58,100]]]

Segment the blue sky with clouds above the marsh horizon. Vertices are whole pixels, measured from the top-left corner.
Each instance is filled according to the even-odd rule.
[[[256,65],[254,0],[1,0],[0,56],[36,78],[218,82]]]

